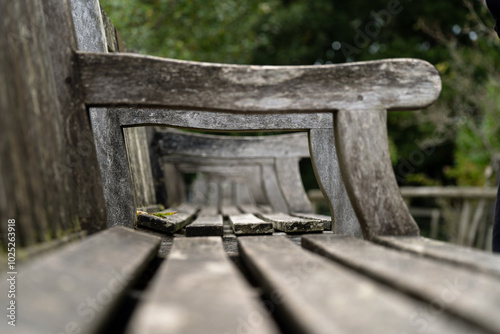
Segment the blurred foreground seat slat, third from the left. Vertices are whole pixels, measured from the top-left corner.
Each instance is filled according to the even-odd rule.
[[[240,237],[239,253],[290,333],[478,333],[445,314],[301,249],[286,237]]]

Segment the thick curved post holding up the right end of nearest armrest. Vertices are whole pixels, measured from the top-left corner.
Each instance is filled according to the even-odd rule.
[[[335,143],[341,174],[363,236],[417,236],[419,229],[392,169],[385,110],[341,110]]]

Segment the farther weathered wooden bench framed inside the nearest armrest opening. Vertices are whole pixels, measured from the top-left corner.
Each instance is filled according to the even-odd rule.
[[[210,188],[211,193],[225,195],[223,189],[219,188],[227,185],[228,180],[239,181],[233,184],[235,185],[233,202],[224,203],[221,197],[215,203],[213,199],[211,203],[206,203],[204,196],[201,196],[201,201],[194,203],[195,206],[208,204],[208,206],[220,209],[223,214],[229,213],[227,216],[230,222],[237,220],[238,215],[245,214],[243,221],[247,222],[245,225],[251,225],[252,229],[238,229],[234,231],[235,233],[242,234],[245,231],[251,234],[263,233],[263,231],[271,233],[273,228],[295,233],[331,230],[329,217],[312,214],[311,204],[302,185],[299,159],[309,157],[305,133],[228,137],[163,130],[156,134],[156,140],[159,151],[157,156],[163,161],[164,169],[170,171],[171,175],[178,175],[179,172],[204,172],[212,177],[214,182],[209,186],[200,184],[203,183],[202,181],[195,182],[195,186],[201,188],[198,192],[204,193]],[[220,182],[217,183],[214,179]],[[171,194],[177,194],[177,189],[185,188],[184,185],[178,184],[182,183],[182,178],[178,176],[175,180],[167,179],[166,183],[167,192]],[[245,187],[246,185],[248,187]],[[248,188],[251,189],[252,194],[248,194]],[[231,188],[226,190],[231,191]],[[239,192],[245,193],[245,190],[247,196],[241,196]],[[183,198],[183,196],[176,196],[176,198]],[[238,200],[242,202],[238,203]],[[258,207],[257,203],[265,206]],[[268,204],[271,210],[268,209]],[[178,210],[172,207],[167,211]],[[139,225],[155,228],[151,225],[152,217],[144,219],[145,217],[140,216],[139,218]],[[215,226],[212,225],[219,226],[219,231],[221,230],[221,219],[211,219],[210,224],[204,222],[205,220],[207,217],[187,226],[186,232],[196,228],[200,230],[196,235],[200,235],[200,225],[207,231],[215,230]],[[273,224],[271,228],[269,228],[269,223]],[[232,227],[234,229],[242,225],[243,222],[238,225],[232,224]],[[262,228],[258,228],[257,225],[262,225]],[[156,228],[162,230],[163,227],[159,225]]]

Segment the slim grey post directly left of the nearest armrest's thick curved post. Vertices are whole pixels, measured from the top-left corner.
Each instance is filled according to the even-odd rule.
[[[361,226],[340,173],[335,145],[333,129],[312,129],[309,131],[311,163],[318,185],[324,197],[328,199],[333,231],[337,234],[361,237]]]

